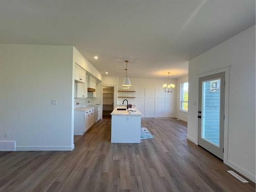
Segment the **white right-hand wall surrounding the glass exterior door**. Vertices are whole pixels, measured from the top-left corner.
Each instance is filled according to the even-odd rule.
[[[230,66],[227,163],[255,182],[255,26],[189,61],[188,138],[197,143],[198,74]]]

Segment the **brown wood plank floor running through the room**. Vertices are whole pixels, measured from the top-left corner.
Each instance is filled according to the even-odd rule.
[[[111,144],[111,119],[75,136],[72,152],[0,152],[0,191],[255,191],[186,139],[186,123],[142,119],[155,139]]]

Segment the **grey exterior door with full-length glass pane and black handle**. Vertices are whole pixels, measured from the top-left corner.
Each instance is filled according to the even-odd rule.
[[[225,72],[199,78],[198,145],[223,160]]]

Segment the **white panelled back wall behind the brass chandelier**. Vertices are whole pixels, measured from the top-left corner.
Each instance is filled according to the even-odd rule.
[[[176,79],[130,78],[130,90],[136,91],[136,99],[128,99],[136,104],[145,117],[176,117],[176,89],[172,93],[164,93],[163,84],[170,80],[177,84]],[[122,79],[118,82],[122,90]],[[120,93],[121,94],[121,93]],[[118,103],[124,98],[118,99]]]

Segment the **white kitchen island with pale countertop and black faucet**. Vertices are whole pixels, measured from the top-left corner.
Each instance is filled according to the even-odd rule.
[[[119,111],[117,109],[126,109],[126,107],[116,106],[111,113],[111,142],[140,143],[141,116],[143,114],[136,108],[136,112]]]

